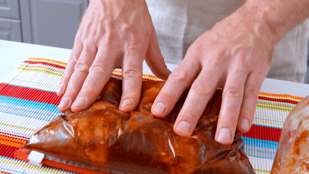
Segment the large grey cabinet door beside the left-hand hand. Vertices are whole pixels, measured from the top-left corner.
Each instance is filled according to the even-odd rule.
[[[28,0],[28,2],[32,43],[71,49],[80,18],[87,8],[87,0]]]

